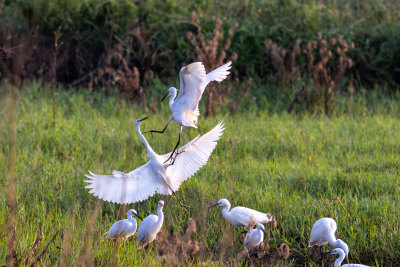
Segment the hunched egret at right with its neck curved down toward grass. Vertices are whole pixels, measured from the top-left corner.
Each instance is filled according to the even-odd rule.
[[[321,255],[323,255],[322,246],[329,243],[333,247],[340,247],[345,252],[347,257],[349,255],[349,247],[341,239],[336,239],[336,229],[337,225],[334,219],[319,219],[314,223],[314,226],[311,229],[311,236],[308,247],[312,247],[314,245],[320,246],[320,252]]]

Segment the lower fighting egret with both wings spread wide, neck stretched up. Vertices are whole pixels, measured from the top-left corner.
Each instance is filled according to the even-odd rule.
[[[145,119],[147,117],[137,120],[135,127],[147,150],[149,161],[129,173],[113,171],[112,175],[98,175],[89,171],[90,174],[86,176],[90,180],[85,181],[89,183],[86,186],[91,189],[89,193],[105,201],[119,204],[143,201],[155,193],[174,194],[176,197],[175,191],[181,183],[206,164],[224,131],[220,122],[208,133],[197,136],[178,149],[179,155],[172,165],[164,163],[169,154],[156,154],[140,132],[140,124]]]

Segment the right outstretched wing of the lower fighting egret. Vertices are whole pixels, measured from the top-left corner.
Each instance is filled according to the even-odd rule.
[[[208,133],[197,136],[185,146],[178,149],[179,155],[174,165],[166,169],[167,176],[170,177],[170,186],[174,191],[178,190],[183,181],[190,178],[206,164],[224,131],[223,127],[223,123],[220,122]],[[169,155],[170,153],[162,157],[167,160]]]

